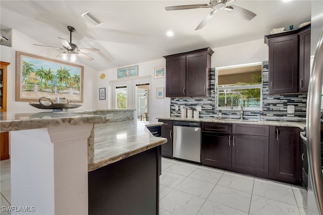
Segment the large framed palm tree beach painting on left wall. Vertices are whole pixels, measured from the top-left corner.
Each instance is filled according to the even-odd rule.
[[[83,103],[84,67],[16,51],[16,101],[66,97]]]

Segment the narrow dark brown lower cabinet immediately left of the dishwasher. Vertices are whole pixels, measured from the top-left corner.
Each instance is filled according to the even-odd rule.
[[[158,120],[164,123],[161,125],[161,137],[167,138],[167,143],[161,145],[161,156],[173,158],[173,121]]]

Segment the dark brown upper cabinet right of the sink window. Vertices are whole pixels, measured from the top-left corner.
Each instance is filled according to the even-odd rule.
[[[310,75],[310,25],[265,35],[269,47],[270,94],[307,92]]]

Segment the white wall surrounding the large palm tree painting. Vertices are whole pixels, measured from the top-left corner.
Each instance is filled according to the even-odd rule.
[[[58,52],[44,47],[34,46],[33,43],[41,44],[38,41],[12,29],[12,47],[0,46],[1,61],[9,62],[8,66],[8,94],[7,94],[7,111],[16,113],[37,113],[43,110],[33,108],[26,101],[16,101],[16,51],[23,51],[34,55],[55,59]],[[49,49],[49,50],[48,50]],[[78,65],[79,64],[77,62]],[[82,65],[84,66],[84,65]],[[95,74],[95,75],[94,75]],[[83,105],[77,110],[96,109],[96,71],[84,66],[84,95]]]

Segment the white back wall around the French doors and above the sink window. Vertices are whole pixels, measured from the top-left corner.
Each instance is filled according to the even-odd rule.
[[[211,67],[233,66],[247,63],[262,62],[268,60],[268,46],[263,43],[263,39],[253,40],[249,42],[227,45],[212,48],[214,53],[211,57]],[[166,60],[164,58],[138,63],[138,76],[151,75],[151,101],[150,101],[150,121],[156,122],[156,118],[170,117],[170,98],[157,99],[156,88],[165,87],[165,78],[154,78],[154,67],[164,66]],[[132,65],[127,65],[132,66]],[[127,67],[125,66],[125,67]],[[105,79],[100,79],[101,74],[105,74]],[[98,101],[98,109],[111,109],[111,82],[117,79],[117,68],[99,71],[97,73],[97,82],[99,87],[106,87],[107,100]],[[109,90],[108,90],[109,89]],[[109,93],[108,93],[109,91]],[[98,94],[98,93],[97,93]]]

